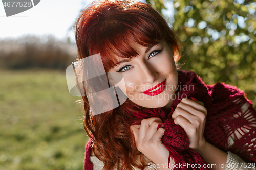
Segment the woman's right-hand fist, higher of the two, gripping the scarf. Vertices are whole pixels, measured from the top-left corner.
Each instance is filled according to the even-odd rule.
[[[189,147],[198,152],[206,145],[203,136],[206,122],[207,109],[203,102],[183,98],[177,105],[172,119],[186,132],[189,139]]]

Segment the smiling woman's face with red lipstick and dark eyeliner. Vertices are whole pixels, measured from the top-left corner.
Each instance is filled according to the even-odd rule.
[[[122,74],[132,102],[147,108],[170,107],[178,84],[172,47],[161,42],[147,47],[134,44],[134,48],[137,57],[117,58],[118,66],[109,72]]]

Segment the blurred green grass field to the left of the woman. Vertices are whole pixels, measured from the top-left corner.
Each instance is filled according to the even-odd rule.
[[[83,169],[83,113],[65,71],[0,71],[0,169]]]

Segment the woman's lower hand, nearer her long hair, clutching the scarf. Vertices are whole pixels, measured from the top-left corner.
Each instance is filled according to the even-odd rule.
[[[143,119],[140,125],[132,125],[130,129],[134,134],[137,149],[155,164],[168,163],[169,151],[162,143],[165,129],[158,124],[162,120],[158,117]],[[171,160],[172,162],[172,160]]]

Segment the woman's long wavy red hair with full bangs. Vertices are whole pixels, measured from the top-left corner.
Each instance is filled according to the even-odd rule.
[[[76,22],[77,60],[100,53],[105,72],[116,65],[116,57],[138,55],[132,48],[133,43],[150,46],[161,41],[172,47],[175,61],[178,61],[179,40],[174,31],[156,10],[141,2],[94,1],[81,12]],[[131,111],[144,108],[127,99],[116,109],[92,116],[86,96],[82,96],[81,103],[84,129],[90,138],[90,132],[94,135],[92,139],[103,158],[96,156],[105,164],[104,170],[113,169],[116,164],[123,170],[132,170],[131,165],[143,169],[146,166],[143,157],[140,157],[142,165],[134,160],[138,151],[126,120]]]

